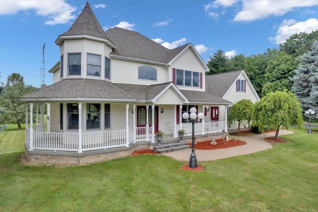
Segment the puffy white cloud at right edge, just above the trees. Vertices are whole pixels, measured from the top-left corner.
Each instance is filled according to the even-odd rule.
[[[273,43],[280,44],[284,43],[286,39],[288,39],[293,34],[299,34],[301,32],[311,33],[316,29],[318,29],[317,18],[310,18],[306,21],[299,22],[296,22],[294,19],[285,19],[277,30],[276,36],[270,37],[269,40]]]

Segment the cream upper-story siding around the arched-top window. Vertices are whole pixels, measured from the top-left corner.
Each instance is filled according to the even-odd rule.
[[[139,80],[138,67],[145,63],[132,62],[127,60],[111,59],[111,81],[112,83],[126,83],[137,85],[153,85],[168,82],[167,68],[164,66],[151,65],[157,69],[157,81]]]

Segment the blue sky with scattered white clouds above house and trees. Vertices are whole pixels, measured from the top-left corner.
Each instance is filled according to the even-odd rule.
[[[20,73],[26,85],[53,83],[58,36],[86,0],[0,0],[0,82]],[[192,43],[203,60],[278,48],[295,33],[318,29],[318,0],[89,0],[100,25],[137,31],[166,48]],[[45,76],[41,77],[43,45]]]

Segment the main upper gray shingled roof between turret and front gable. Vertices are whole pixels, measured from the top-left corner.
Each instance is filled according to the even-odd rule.
[[[114,27],[105,32],[117,48],[110,54],[158,63],[168,63],[187,45],[169,50],[139,32]]]

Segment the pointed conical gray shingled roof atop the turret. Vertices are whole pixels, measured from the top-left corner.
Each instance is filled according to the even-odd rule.
[[[93,37],[107,39],[103,28],[100,26],[88,2],[71,28],[60,36],[64,35],[90,35]]]

